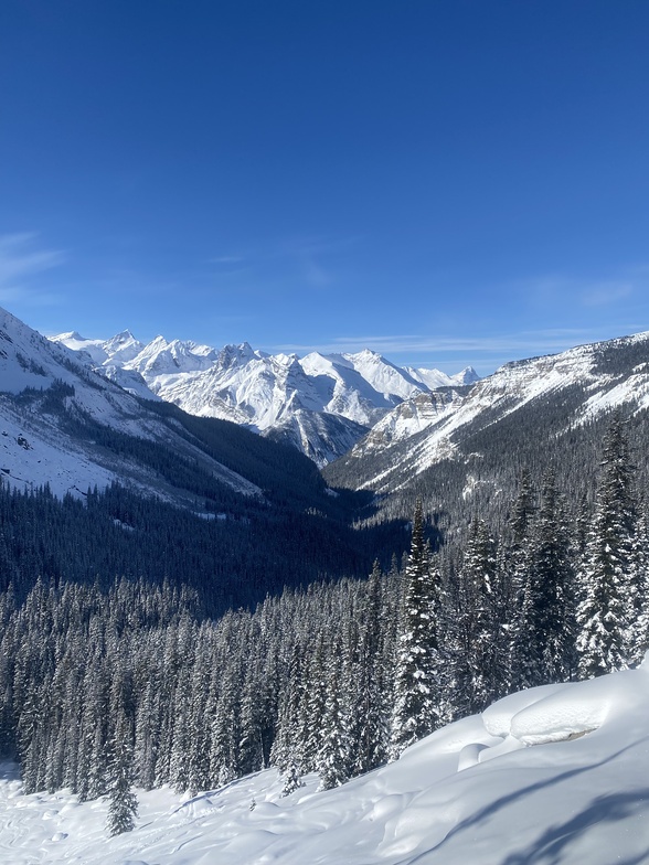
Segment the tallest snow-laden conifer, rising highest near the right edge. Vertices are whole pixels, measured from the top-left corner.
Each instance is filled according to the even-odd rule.
[[[629,449],[624,421],[616,413],[604,442],[595,516],[579,574],[577,650],[583,679],[624,669],[628,663],[635,531]]]

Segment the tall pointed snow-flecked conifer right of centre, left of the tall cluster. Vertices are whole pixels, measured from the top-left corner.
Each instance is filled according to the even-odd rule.
[[[393,760],[437,725],[438,612],[439,572],[430,560],[422,502],[417,501],[396,649],[390,740]]]

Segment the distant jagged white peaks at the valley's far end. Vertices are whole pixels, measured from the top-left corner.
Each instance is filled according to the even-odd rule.
[[[357,354],[268,354],[248,343],[209,345],[130,331],[111,340],[76,332],[52,338],[85,352],[104,375],[131,393],[155,396],[203,417],[245,425],[297,447],[322,467],[347,452],[382,415],[434,387],[478,380],[471,367],[455,376],[402,369],[368,349]]]

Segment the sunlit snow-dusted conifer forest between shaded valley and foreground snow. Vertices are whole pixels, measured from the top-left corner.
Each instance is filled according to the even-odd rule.
[[[589,495],[522,471],[499,532],[476,515],[460,544],[439,543],[418,501],[391,566],[225,612],[200,579],[88,583],[42,557],[28,586],[6,506],[0,747],[26,792],[108,794],[117,833],[134,786],[195,792],[276,766],[286,793],[313,771],[329,789],[509,692],[632,665],[649,641],[634,462],[615,415]],[[39,535],[30,496],[2,494]]]

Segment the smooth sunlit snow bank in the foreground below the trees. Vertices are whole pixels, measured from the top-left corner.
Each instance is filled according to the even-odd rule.
[[[649,663],[534,688],[342,788],[280,798],[268,770],[181,798],[139,793],[108,839],[105,800],[0,782],[0,862],[83,865],[632,865],[649,862]],[[7,767],[6,767],[7,768]],[[255,808],[251,810],[251,803]]]

